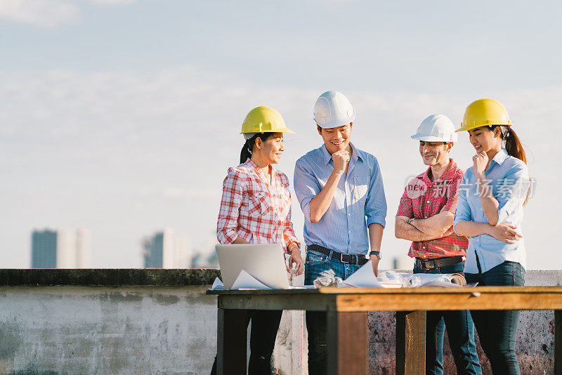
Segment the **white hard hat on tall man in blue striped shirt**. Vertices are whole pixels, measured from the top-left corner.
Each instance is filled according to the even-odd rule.
[[[326,91],[314,105],[314,121],[324,129],[349,124],[355,120],[355,109],[346,96],[338,91]]]

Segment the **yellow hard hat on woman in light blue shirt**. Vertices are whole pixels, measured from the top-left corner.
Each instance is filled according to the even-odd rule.
[[[494,125],[511,126],[504,105],[494,99],[478,99],[466,107],[461,127],[457,131]]]

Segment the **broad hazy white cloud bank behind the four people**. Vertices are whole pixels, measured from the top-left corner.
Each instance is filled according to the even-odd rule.
[[[153,228],[186,231],[193,243],[200,242],[216,225],[222,180],[228,166],[237,164],[245,114],[270,105],[297,132],[287,135],[277,166],[292,180],[295,160],[320,146],[311,112],[321,92],[263,85],[192,65],[145,72],[0,72],[0,177],[9,181],[0,186],[0,197],[5,198],[4,215],[13,218],[0,228],[0,237],[6,249],[16,250],[0,251],[0,256],[27,256],[18,238],[28,238],[26,231],[34,226],[59,223],[90,228],[97,266],[134,266],[138,239]],[[425,168],[410,135],[433,112],[459,124],[464,107],[475,98],[383,89],[346,95],[358,111],[355,144],[381,164],[388,202],[383,249],[390,260],[405,254],[408,246],[393,238],[392,229],[405,180]],[[534,155],[529,169],[537,192],[526,213],[525,242],[529,249],[539,248],[543,228],[562,225],[542,212],[561,208],[559,178],[552,171],[559,169],[562,157],[557,144],[562,130],[552,124],[562,121],[555,110],[562,88],[481,96],[507,106]],[[466,134],[460,135],[452,157],[463,169],[472,152]],[[303,217],[296,200],[293,210],[301,237]],[[531,268],[551,264],[541,254],[533,254],[530,262]]]

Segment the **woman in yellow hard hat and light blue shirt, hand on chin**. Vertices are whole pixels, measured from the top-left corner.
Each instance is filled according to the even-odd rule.
[[[476,150],[459,187],[457,235],[469,237],[464,274],[478,285],[525,284],[523,205],[530,179],[525,151],[505,107],[481,99],[464,112],[462,126]],[[519,311],[471,310],[494,374],[519,374],[515,338]]]

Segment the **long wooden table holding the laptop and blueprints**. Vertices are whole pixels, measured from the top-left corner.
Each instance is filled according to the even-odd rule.
[[[218,295],[218,374],[246,374],[247,310],[327,315],[328,374],[368,373],[367,312],[396,311],[396,374],[425,374],[427,310],[554,310],[562,375],[562,287],[335,288],[208,291]],[[225,371],[228,369],[228,371]]]

